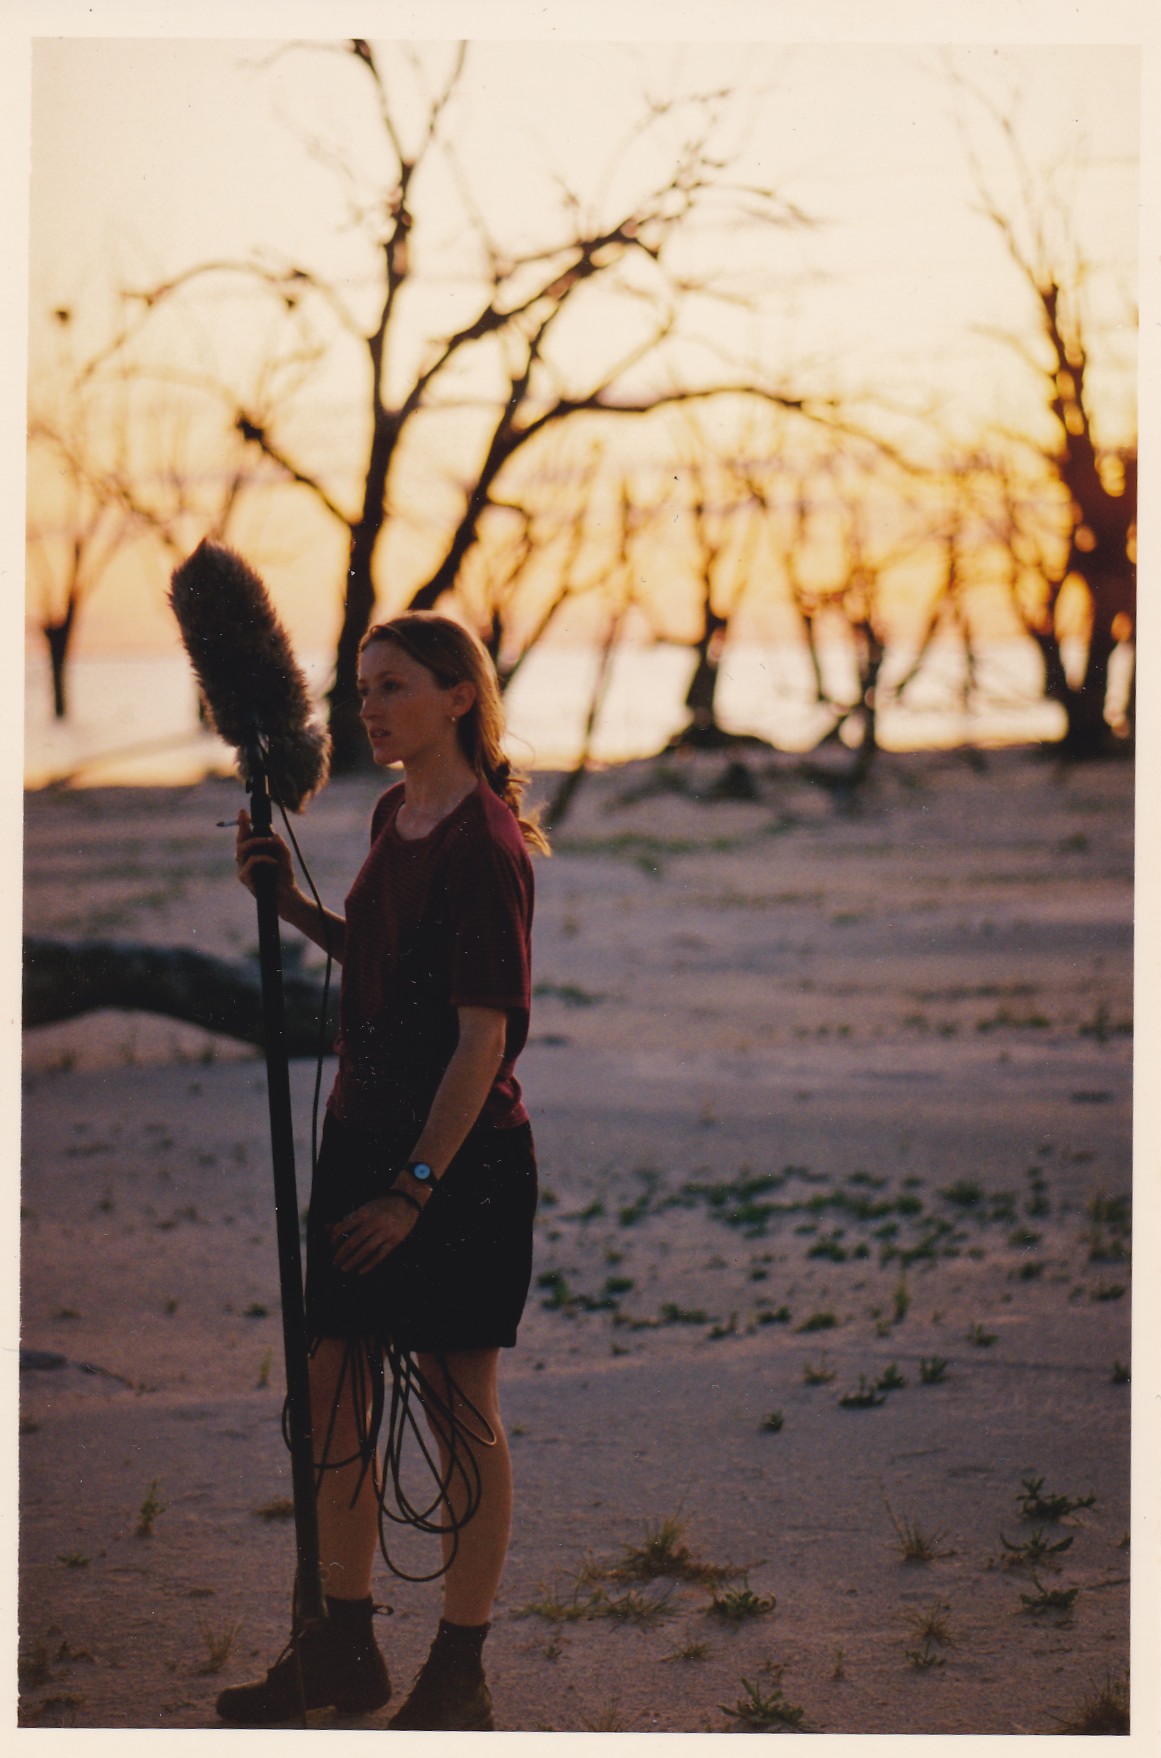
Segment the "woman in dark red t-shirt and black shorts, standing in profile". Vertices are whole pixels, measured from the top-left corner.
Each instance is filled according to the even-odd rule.
[[[498,1362],[528,1294],[537,1206],[514,1072],[531,992],[528,846],[547,842],[519,816],[496,673],[473,635],[431,614],[373,626],[359,694],[375,763],[403,765],[403,782],[375,807],[345,918],[297,888],[280,837],[255,837],[237,816],[241,883],[253,891],[255,868],[274,863],[281,919],[343,965],[340,1067],[306,1241],[327,1619],[299,1642],[303,1695],[308,1709],[345,1714],[391,1696],[371,1633],[380,1505],[369,1468],[371,1385],[387,1350],[396,1387],[419,1369],[445,1566],[440,1630],[391,1726],[484,1730],[482,1644],[512,1519]],[[223,1691],[218,1712],[257,1726],[297,1704],[287,1654],[266,1679]]]

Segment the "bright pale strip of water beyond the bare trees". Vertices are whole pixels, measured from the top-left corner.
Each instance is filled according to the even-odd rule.
[[[902,675],[909,657],[894,654],[885,677]],[[537,768],[565,768],[580,751],[596,654],[545,647],[517,672],[508,693],[512,756]],[[626,647],[612,666],[593,756],[623,761],[658,751],[686,721],[683,698],[693,657],[686,647]],[[329,656],[303,657],[320,696]],[[1040,663],[1031,645],[997,643],[978,672],[971,710],[962,705],[962,665],[953,649],[932,656],[908,703],[880,707],[887,749],[962,742],[1011,744],[1057,738],[1061,710],[1040,698]],[[851,687],[834,656],[830,687]],[[883,693],[881,693],[883,694]],[[197,694],[181,654],[79,657],[69,673],[70,712],[53,721],[47,659],[35,649],[25,665],[25,782],[39,788],[74,775],[81,784],[178,784],[232,768],[232,751],[199,730]],[[806,751],[829,726],[813,698],[813,679],[793,649],[728,649],[719,682],[719,717],[788,751]]]

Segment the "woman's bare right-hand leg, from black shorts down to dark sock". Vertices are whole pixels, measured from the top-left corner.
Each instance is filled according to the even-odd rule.
[[[419,1369],[436,1392],[450,1403],[459,1419],[461,1433],[466,1431],[461,1447],[471,1450],[480,1473],[480,1505],[471,1519],[459,1529],[457,1544],[450,1533],[443,1535],[443,1558],[450,1558],[450,1566],[443,1577],[443,1617],[450,1624],[486,1624],[493,1612],[493,1600],[503,1573],[508,1554],[508,1535],[512,1531],[512,1459],[508,1442],[500,1417],[500,1350],[473,1348],[447,1357],[447,1371],[452,1387],[449,1389],[440,1362],[434,1355],[419,1355]],[[478,1415],[475,1415],[478,1412]],[[480,1417],[487,1427],[480,1426]],[[443,1426],[436,1410],[427,1410],[427,1422],[440,1445],[440,1457],[447,1470],[449,1449]],[[471,1440],[471,1435],[496,1436],[494,1445]],[[466,1487],[459,1473],[449,1486],[452,1512],[461,1515],[466,1503]],[[454,1551],[454,1556],[452,1556]]]

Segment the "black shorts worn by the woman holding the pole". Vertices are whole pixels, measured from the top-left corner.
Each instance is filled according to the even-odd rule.
[[[510,1348],[531,1282],[537,1157],[528,1123],[477,1125],[408,1238],[366,1275],[334,1268],[327,1227],[383,1195],[406,1164],[403,1139],[368,1136],[329,1111],[306,1224],[306,1327],[454,1354]]]

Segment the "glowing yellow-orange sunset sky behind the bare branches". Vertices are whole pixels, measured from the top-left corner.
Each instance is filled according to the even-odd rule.
[[[440,582],[477,628],[500,619],[508,656],[544,631],[602,640],[610,617],[688,650],[712,601],[728,640],[793,657],[804,608],[825,643],[865,605],[906,647],[931,638],[953,552],[973,640],[1045,615],[1087,640],[1084,589],[1057,580],[1040,608],[1071,526],[1043,468],[1073,431],[1052,396],[1073,392],[1052,387],[1033,276],[1061,281],[1077,420],[1119,496],[1140,40],[1084,40],[1078,14],[1071,40],[976,42],[959,9],[894,4],[878,33],[850,12],[878,40],[843,35],[841,7],[813,42],[744,7],[719,40],[697,7],[616,40],[600,9],[565,35],[501,5],[461,49],[452,12],[366,65],[352,40],[266,28],[32,40],[30,675],[77,529],[70,663],[176,657],[165,582],[208,533],[260,570],[303,650],[334,652],[383,311],[380,403],[406,432],[376,499],[375,614]],[[570,239],[610,227],[573,290]],[[493,285],[503,322],[461,346]],[[517,445],[486,466],[561,292]],[[1114,612],[1131,640],[1131,605]]]

